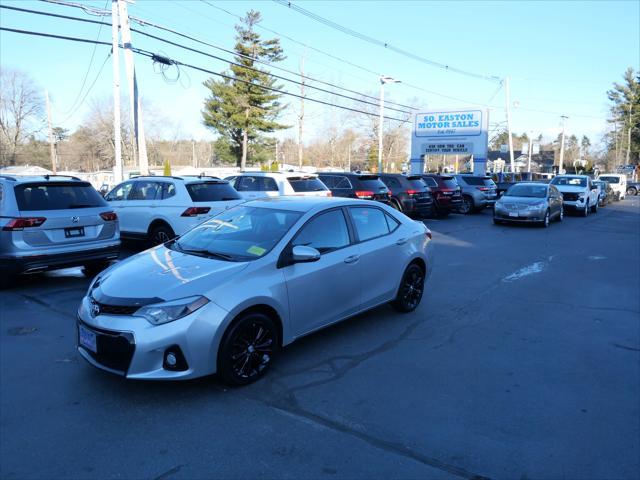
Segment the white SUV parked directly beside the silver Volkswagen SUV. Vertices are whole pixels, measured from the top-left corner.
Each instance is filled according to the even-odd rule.
[[[134,177],[105,199],[120,219],[123,238],[153,245],[176,235],[243,200],[229,182],[217,177]]]

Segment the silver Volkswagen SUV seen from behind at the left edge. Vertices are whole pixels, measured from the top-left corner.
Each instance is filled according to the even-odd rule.
[[[90,183],[0,175],[0,286],[14,274],[77,265],[94,274],[119,249],[118,217]]]

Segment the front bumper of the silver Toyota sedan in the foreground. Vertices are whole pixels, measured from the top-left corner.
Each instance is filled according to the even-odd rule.
[[[133,315],[92,317],[89,309],[85,297],[78,309],[76,340],[80,355],[97,368],[138,380],[187,380],[216,372],[228,312],[214,302],[163,325]],[[96,352],[80,344],[80,327],[95,334]],[[165,352],[176,347],[186,363],[180,370],[164,364]]]

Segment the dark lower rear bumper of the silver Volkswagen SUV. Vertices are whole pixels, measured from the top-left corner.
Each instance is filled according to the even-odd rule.
[[[0,268],[6,272],[30,273],[55,270],[58,268],[75,267],[92,261],[115,260],[120,252],[120,241],[100,248],[89,250],[75,250],[64,253],[41,255],[2,255]]]

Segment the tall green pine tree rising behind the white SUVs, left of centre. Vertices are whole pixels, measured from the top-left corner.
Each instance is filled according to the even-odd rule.
[[[281,95],[269,89],[282,89],[258,61],[279,62],[285,57],[280,39],[263,40],[255,32],[262,17],[251,10],[236,25],[234,62],[225,75],[230,78],[207,80],[211,94],[205,101],[204,124],[229,139],[236,163],[246,166],[249,144],[260,141],[261,133],[287,128],[276,119],[283,105]]]

